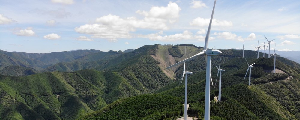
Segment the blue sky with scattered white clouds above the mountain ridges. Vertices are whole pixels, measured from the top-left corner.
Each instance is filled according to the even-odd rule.
[[[0,49],[47,53],[124,51],[153,44],[204,46],[213,0],[0,0]],[[300,1],[217,0],[208,48],[273,40],[300,50]],[[265,43],[267,45],[267,42]]]

